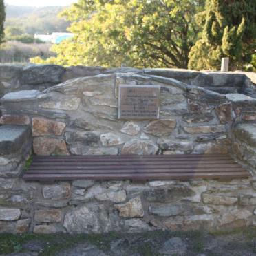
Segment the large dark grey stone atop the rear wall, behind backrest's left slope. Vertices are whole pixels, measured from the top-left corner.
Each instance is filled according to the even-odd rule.
[[[61,83],[65,68],[58,65],[30,65],[23,68],[21,83],[36,85],[41,83]]]

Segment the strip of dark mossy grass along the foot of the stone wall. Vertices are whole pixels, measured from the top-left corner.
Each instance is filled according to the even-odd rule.
[[[33,233],[25,233],[22,235],[0,234],[0,255],[8,253],[25,253],[23,244],[29,241],[37,241],[45,244],[39,255],[53,256],[61,252],[61,250],[67,250],[87,242],[98,247],[103,252],[108,252],[111,248],[111,242],[118,239],[128,239],[131,242],[129,250],[134,253],[140,253],[143,256],[158,256],[158,248],[162,246],[162,243],[167,241],[171,237],[180,237],[187,241],[189,251],[193,255],[204,253],[204,246],[211,237],[222,237],[228,235],[241,235],[243,237],[244,246],[248,244],[252,252],[256,251],[256,244],[254,239],[256,237],[256,228],[235,228],[228,231],[216,231],[212,233],[205,233],[200,231],[188,231],[188,232],[170,232],[170,231],[150,231],[139,234],[125,234],[125,233],[105,233],[105,234],[76,234],[70,235],[66,233],[56,233],[50,235],[39,235]],[[210,253],[211,254],[211,253]],[[125,256],[125,255],[124,255]],[[127,255],[128,256],[128,255]]]

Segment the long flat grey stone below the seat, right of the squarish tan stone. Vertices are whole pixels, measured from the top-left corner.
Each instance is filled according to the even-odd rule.
[[[149,206],[149,213],[159,217],[169,217],[175,215],[200,215],[209,212],[204,206],[193,204],[154,204]]]

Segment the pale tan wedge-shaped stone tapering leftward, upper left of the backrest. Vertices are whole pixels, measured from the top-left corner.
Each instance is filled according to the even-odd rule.
[[[45,103],[41,103],[39,107],[43,107],[44,109],[61,109],[61,110],[77,110],[80,105],[80,98],[63,98],[61,101],[47,101]]]

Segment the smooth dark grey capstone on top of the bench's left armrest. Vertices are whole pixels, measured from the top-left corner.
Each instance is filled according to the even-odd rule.
[[[17,152],[29,141],[28,127],[20,125],[3,125],[0,127],[0,155]]]

